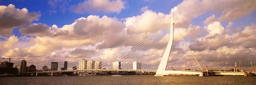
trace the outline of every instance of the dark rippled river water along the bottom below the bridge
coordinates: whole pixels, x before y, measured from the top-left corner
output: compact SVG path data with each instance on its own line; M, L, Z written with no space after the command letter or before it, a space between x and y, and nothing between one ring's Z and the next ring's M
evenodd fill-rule
M256 77L243 76L168 76L153 75L131 76L66 76L66 77L0 77L0 85L256 85Z

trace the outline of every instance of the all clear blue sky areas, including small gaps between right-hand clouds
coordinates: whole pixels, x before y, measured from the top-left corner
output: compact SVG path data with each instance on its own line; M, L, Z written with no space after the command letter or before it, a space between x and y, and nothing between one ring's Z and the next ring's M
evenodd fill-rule
M48 4L47 0L4 0L1 1L0 5L9 5L13 4L16 8L22 9L27 8L29 12L37 12L41 14L41 17L38 21L32 21L32 23L45 23L48 26L52 26L53 24L56 24L58 27L62 27L66 24L71 24L74 22L74 20L81 18L81 17L87 17L89 15L98 15L100 17L102 16L108 16L108 17L117 17L118 19L124 19L127 17L132 17L136 15L140 15L142 12L140 9L144 6L147 6L148 10L152 10L154 12L161 12L164 14L169 14L171 11L171 8L176 6L177 4L181 3L182 0L127 0L125 1L126 8L123 9L120 13L83 13L83 14L77 14L73 13L68 9L68 6L75 5L77 3L83 2L84 0L75 0L75 1L69 1L67 9L65 12L60 12L58 7L55 8L57 11L56 13L51 13L49 10L52 10L50 4ZM60 3L56 3L59 5ZM195 24L198 26L204 26L202 23L203 20L205 20L207 17L211 16L212 12L208 11L206 14L199 16L192 20L191 24ZM217 14L217 16L220 16L221 13ZM238 28L241 26L248 26L251 25L252 22L256 22L256 12L253 12L251 15L245 16L240 20L234 21L233 28ZM228 24L228 21L221 22L224 26ZM16 36L22 36L21 33L18 32L19 28L14 29L13 34ZM2 40L2 39L1 39Z

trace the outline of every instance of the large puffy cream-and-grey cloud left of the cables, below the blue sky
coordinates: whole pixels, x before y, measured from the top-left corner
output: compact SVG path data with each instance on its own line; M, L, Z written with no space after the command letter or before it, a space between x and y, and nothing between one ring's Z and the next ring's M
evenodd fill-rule
M62 48L94 45L102 41L107 43L100 44L100 47L109 48L127 39L122 36L112 37L118 34L122 35L123 29L125 29L125 25L116 18L106 16L99 18L99 16L92 15L87 18L79 18L74 23L65 25L62 28L58 28L56 25L51 28L46 24L34 23L20 29L19 32L25 35L35 35L36 38L30 41L35 45L23 49L11 49L4 53L3 56L11 54L13 54L12 56L18 56L22 54L29 57L39 57ZM75 54L76 51L79 51L79 49L71 52L69 57L82 56Z

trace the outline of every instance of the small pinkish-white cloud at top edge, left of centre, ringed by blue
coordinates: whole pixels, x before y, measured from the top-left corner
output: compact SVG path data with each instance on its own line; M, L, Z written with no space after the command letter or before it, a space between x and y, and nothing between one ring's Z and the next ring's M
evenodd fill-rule
M119 13L125 8L125 2L122 0L85 0L77 5L70 6L70 9L75 13Z

